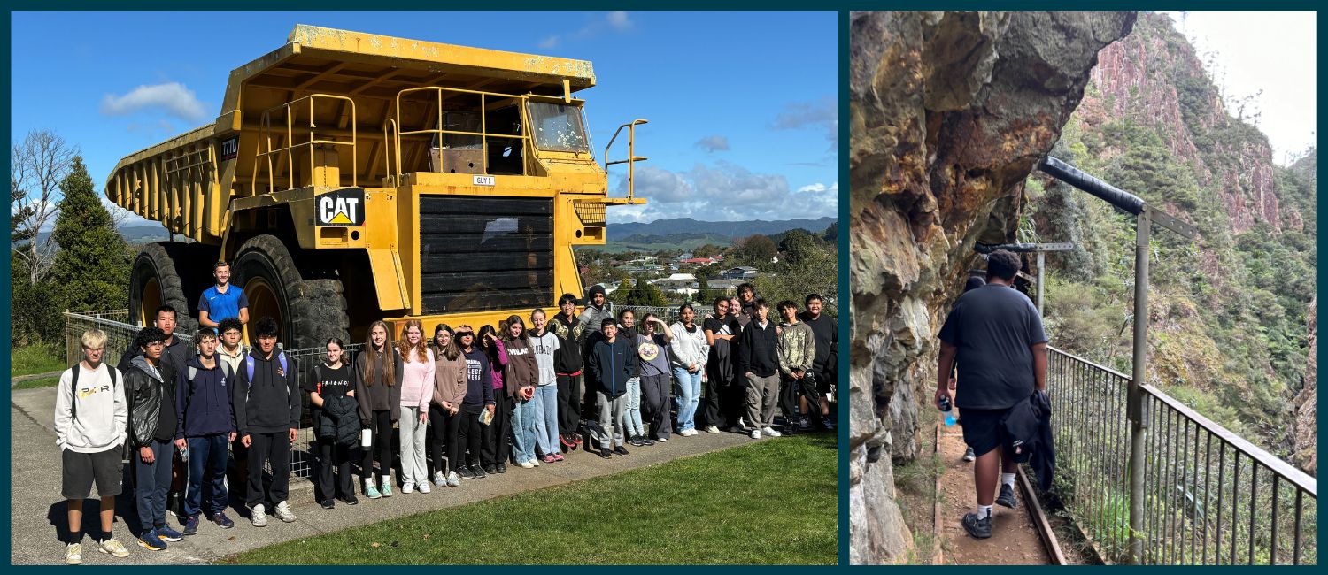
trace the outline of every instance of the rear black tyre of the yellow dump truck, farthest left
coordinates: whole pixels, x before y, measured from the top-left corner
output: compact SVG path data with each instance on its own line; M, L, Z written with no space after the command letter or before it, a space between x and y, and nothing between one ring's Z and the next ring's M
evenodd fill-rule
M183 262L183 244L154 242L143 246L129 272L129 323L150 325L159 305L175 308L175 331L193 335L198 320L190 315L189 299L177 263Z

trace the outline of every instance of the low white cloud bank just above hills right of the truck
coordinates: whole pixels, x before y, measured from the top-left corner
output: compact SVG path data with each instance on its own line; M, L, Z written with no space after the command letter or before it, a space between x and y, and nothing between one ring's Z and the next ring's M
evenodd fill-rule
M636 171L635 191L649 203L610 211L615 223L822 218L839 211L838 183L813 183L793 191L784 175L757 174L729 162L696 165L688 171L643 167ZM620 175L614 195L625 194L627 178Z

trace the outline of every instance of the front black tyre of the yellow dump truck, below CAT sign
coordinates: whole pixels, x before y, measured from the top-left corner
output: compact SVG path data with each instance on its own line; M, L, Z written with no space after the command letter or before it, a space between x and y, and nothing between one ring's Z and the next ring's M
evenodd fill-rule
M305 280L291 251L272 235L251 238L240 246L231 267L232 282L250 300L246 335L264 316L276 320L278 341L286 349L320 348L329 337L348 339L349 317L340 279Z

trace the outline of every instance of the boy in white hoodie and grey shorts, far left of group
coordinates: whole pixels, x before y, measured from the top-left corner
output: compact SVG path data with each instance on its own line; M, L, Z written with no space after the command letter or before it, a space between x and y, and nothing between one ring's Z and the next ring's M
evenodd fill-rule
M94 482L101 497L97 548L117 558L129 556L129 550L110 534L124 474L121 450L129 434L125 376L102 363L105 332L89 329L80 343L84 360L61 373L56 388L56 445L62 463L61 494L68 499L65 563L69 564L82 563L82 502L92 495Z

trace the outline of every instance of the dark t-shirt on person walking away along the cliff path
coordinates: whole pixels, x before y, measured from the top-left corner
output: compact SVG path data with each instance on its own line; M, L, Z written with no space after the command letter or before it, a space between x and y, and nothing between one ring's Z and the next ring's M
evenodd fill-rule
M1046 333L1019 291L989 284L965 292L939 337L959 348L957 408L1005 409L1033 394L1032 347L1046 343Z

